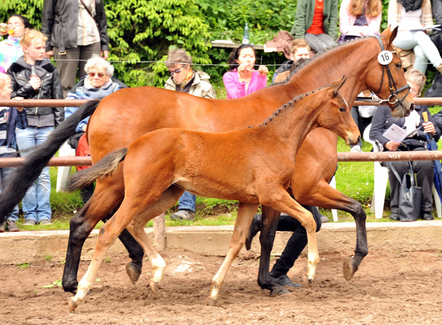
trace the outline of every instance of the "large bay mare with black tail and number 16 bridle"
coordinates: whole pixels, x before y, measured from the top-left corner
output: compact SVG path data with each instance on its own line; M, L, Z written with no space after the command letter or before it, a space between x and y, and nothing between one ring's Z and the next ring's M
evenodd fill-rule
M397 29L390 32L388 28L383 32L381 39L385 49L394 50L392 41L396 33ZM302 93L329 84L343 75L348 79L340 93L349 106L352 106L358 93L366 89L377 92L378 97L386 99L391 92L387 74L383 73L383 68L377 61L379 52L381 52L381 46L374 37L341 43L339 46L316 55L289 81L264 88L240 99L203 99L171 90L140 87L122 89L105 97L102 101L85 104L61 126L58 126L46 142L26 159L22 167L17 168L8 187L1 195L0 221L23 197L26 189L37 179L50 157L73 134L78 122L84 117L92 115L87 132L91 157L95 164L108 152L128 146L144 133L159 128L173 127L204 132L224 132L259 124L282 104ZM401 59L394 54L392 62L388 65L398 88L406 85L401 64ZM403 117L410 113L414 105L412 97L407 94L404 99L404 96L405 92L398 95L398 98L403 101L392 110L392 115ZM329 179L336 170L336 143L336 135L323 128L318 128L307 136L296 159L295 173L300 175L296 179L302 179L302 181L298 181L292 191L300 204L336 208L352 213L356 220L357 238L355 255L346 262L346 278L348 278L357 270L361 260L367 254L365 213L358 202L328 185ZM76 292L77 271L84 241L100 219L108 218L113 214L123 197L122 168L118 168L113 175L97 181L93 197L71 219L63 275L64 290ZM270 224L277 223L278 212L266 207L262 210L262 220L269 219ZM261 232L261 242L265 233L265 231ZM268 235L271 235L270 232ZM132 262L128 264L127 269L131 280L135 282L140 275L143 250L126 230L119 238L129 250ZM266 247L271 248L273 238L270 238L269 242ZM265 288L280 287L278 284L273 284L265 275L265 268L265 266L260 266L260 280L258 281L260 285Z

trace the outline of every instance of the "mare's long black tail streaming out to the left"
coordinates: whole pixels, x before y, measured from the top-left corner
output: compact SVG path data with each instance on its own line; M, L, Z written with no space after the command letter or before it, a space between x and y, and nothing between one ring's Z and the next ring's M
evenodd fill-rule
M64 141L73 135L79 122L92 115L98 104L99 101L88 101L81 105L73 115L70 115L55 128L43 144L37 146L32 154L26 157L23 165L17 167L15 172L10 175L8 185L0 195L0 223L6 219L14 206L26 194L26 190L39 177L49 159L55 155Z

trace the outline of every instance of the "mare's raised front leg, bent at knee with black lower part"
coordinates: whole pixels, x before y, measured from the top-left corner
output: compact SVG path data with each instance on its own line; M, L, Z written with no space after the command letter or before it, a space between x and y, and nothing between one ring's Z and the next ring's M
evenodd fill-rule
M322 180L316 184L318 189L314 193L296 193L296 197L302 204L320 206L321 208L338 209L350 213L356 221L356 248L353 257L347 257L344 261L343 272L346 280L352 279L358 270L363 258L368 254L367 230L365 220L367 215L358 201L340 193L327 181Z

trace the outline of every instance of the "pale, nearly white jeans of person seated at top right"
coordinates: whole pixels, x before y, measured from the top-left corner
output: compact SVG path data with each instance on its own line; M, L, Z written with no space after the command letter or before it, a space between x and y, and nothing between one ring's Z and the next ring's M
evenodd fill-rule
M413 68L422 73L425 73L427 70L428 60L430 60L434 68L439 67L442 63L439 50L425 32L398 32L398 36L394 39L393 45L402 50L413 50L414 56L416 57L416 59L414 59Z

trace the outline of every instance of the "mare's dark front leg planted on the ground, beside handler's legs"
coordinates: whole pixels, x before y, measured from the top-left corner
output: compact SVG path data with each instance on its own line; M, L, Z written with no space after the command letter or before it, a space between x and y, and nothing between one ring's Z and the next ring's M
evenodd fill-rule
M280 212L268 206L261 206L261 210L261 257L258 272L258 284L262 289L270 290L270 296L275 297L277 295L289 293L287 288L274 282L269 273L270 254L273 249L273 242L275 241Z

